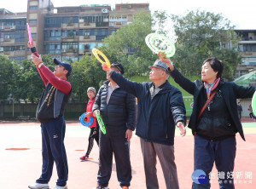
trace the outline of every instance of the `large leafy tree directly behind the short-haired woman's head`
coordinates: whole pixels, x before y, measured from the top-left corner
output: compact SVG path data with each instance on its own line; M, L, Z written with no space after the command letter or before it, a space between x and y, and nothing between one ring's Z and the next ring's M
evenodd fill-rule
M198 9L184 16L172 14L171 18L177 35L177 51L172 60L179 70L187 76L198 75L203 60L215 56L224 60L228 71L224 72L224 77L232 79L241 56L237 50L240 37L230 21L222 14ZM224 49L224 44L229 48Z

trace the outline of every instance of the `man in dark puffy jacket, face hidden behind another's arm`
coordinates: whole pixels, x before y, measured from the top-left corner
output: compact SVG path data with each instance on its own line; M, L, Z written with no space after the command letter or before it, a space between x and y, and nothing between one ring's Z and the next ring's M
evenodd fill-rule
M113 72L124 74L124 67L114 63ZM113 154L116 172L121 188L127 189L131 182L130 140L136 124L135 96L120 89L113 79L107 76L99 89L92 111L102 115L106 135L100 131L100 163L96 189L108 189L111 176Z

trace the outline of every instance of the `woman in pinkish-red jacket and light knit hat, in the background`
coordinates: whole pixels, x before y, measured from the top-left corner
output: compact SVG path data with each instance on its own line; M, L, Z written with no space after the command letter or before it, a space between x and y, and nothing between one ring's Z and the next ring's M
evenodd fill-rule
M86 112L88 114L86 114L85 117L87 117L89 119L90 117L93 117L91 110L92 110L93 103L96 100L96 89L93 88L93 87L88 88L87 89L87 95L88 95L90 100L88 101L88 104L87 104L87 107L86 107ZM99 146L99 127L98 127L97 122L96 122L96 117L93 117L93 119L94 119L93 123L89 127L90 128L90 135L89 135L89 139L88 139L89 144L88 144L87 152L85 153L85 155L83 157L80 158L82 161L88 160L89 155L90 155L90 151L93 147L94 140L96 140L96 143Z

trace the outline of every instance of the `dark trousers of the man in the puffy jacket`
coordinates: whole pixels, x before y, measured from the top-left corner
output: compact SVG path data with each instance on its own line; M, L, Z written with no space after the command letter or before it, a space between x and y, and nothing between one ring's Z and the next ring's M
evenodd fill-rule
M130 142L125 138L126 126L106 126L106 135L100 130L100 163L97 182L100 186L108 186L112 172L113 155L116 163L117 179L120 186L130 186L131 161Z

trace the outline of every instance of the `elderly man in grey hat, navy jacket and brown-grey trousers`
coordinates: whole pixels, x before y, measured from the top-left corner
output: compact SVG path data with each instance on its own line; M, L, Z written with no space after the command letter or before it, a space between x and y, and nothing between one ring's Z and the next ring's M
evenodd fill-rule
M136 135L141 138L146 186L159 188L156 175L156 155L160 160L167 189L177 189L177 169L174 162L175 125L181 135L186 135L186 110L181 92L168 81L169 69L166 63L156 60L149 66L152 83L131 82L117 72L102 65L103 70L117 83L120 89L134 94L138 101ZM143 187L143 186L142 186Z

